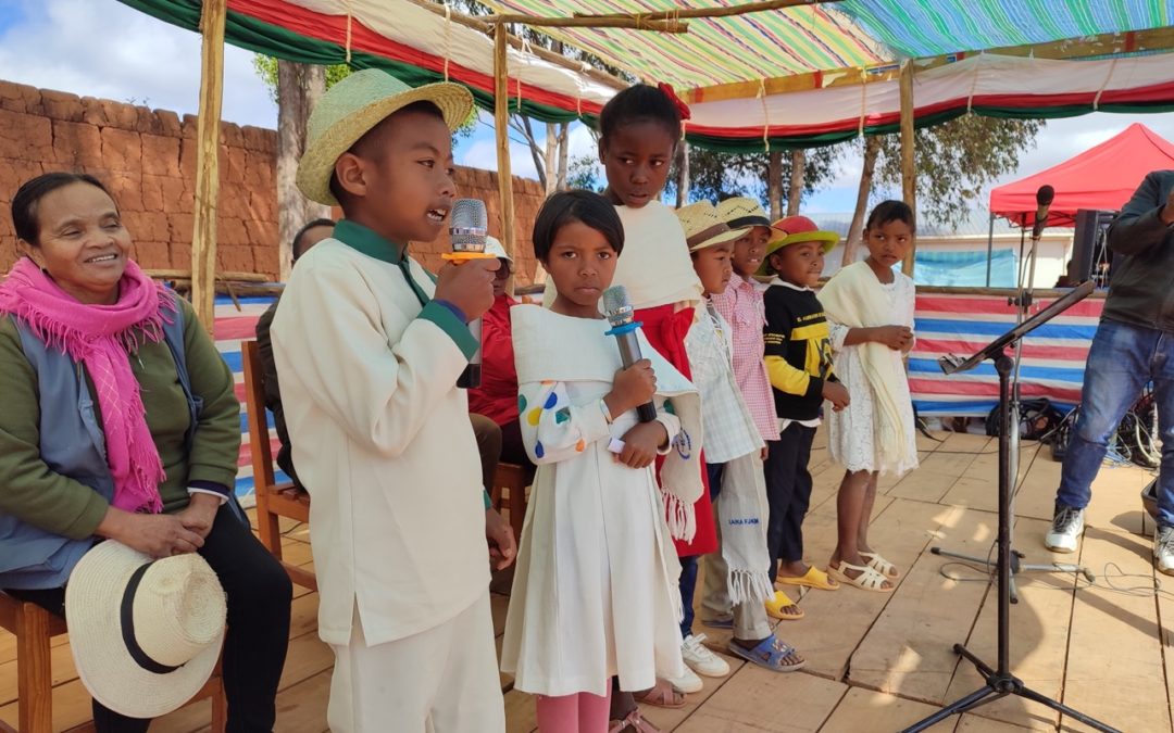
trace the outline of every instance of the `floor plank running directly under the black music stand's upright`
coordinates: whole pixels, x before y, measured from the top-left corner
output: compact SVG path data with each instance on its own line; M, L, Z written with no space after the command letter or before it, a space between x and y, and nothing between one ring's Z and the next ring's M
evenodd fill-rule
M1051 522L1019 520L1017 535L1041 537ZM1032 548L1039 547L1038 542ZM1051 552L1032 552L1031 561L1051 559ZM1075 581L1062 573L1024 573L1017 577L1019 603L1011 606L1011 671L1031 688L1052 699L1064 691L1064 667L1068 656L1068 631ZM996 646L998 605L994 589L987 597L966 647L987 664L998 661ZM950 685L946 701L956 700L983 684L973 665L963 661ZM1059 719L1047 707L1007 697L978 708L976 714L1034 729L1054 729Z

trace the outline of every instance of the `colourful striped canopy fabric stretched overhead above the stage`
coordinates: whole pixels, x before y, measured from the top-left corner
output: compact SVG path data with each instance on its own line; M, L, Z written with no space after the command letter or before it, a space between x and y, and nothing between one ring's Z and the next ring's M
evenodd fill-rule
M198 27L201 0L121 1L167 22ZM290 61L382 68L410 86L451 80L468 87L481 108L493 108L493 41L447 18L440 9L444 2L227 1L230 43ZM535 18L744 4L486 2L500 13ZM670 83L693 106L686 130L690 143L755 152L892 133L900 110L896 69L905 59L915 60L918 127L969 113L1043 118L1174 109L1174 56L1163 53L1174 50L1172 18L1174 0L841 0L687 19L683 34L598 27L540 30L599 56L628 79ZM1053 41L1060 43L1048 57L1021 49L1011 55L974 53ZM1073 47L1079 53L1070 59L1065 49ZM1139 55L1139 48L1156 55ZM1061 59L1052 57L1057 55ZM580 62L568 68L542 59L526 47L508 52L510 107L540 121L592 123L625 83L588 74Z

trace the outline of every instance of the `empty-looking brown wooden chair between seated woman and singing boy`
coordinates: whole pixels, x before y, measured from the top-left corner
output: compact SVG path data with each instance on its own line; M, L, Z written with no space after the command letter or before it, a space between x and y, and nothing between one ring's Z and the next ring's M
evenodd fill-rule
M310 590L318 590L318 581L312 570L282 559L279 520L288 517L296 522L309 522L310 495L296 489L290 482L276 483L274 452L269 444L269 421L265 416L265 371L257 342L242 341L241 357L244 361L244 405L249 414L249 446L252 449L252 484L261 543L282 563L290 581Z

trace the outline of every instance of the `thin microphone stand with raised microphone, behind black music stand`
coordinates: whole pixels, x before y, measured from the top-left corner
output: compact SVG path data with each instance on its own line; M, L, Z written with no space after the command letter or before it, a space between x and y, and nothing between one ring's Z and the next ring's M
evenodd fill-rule
M1026 220L1019 233L1019 267L1018 267L1018 287L1014 297L1007 298L1007 305L1016 306L1016 330L1021 328L1024 323L1031 313L1031 307L1034 304L1035 293L1035 251L1039 246L1039 239L1043 235L1040 230L1040 236L1032 232L1031 237L1031 250L1027 256L1024 257L1024 242L1026 239ZM1026 277L1026 279L1025 279ZM1089 291L1091 292L1091 291ZM1075 303L1075 301L1073 301ZM1041 321L1043 323L1043 321ZM1026 332L1024 332L1026 333ZM1000 422L999 426L999 447L1001 452L1003 439L1007 437L1008 450L1010 450L1010 476L1012 481L1011 489L1011 514L1014 514L1014 498L1019 493L1016 487L1019 486L1019 454L1020 454L1020 434L1019 434L1019 406L1020 406L1020 379L1019 371L1023 365L1023 339L1014 340L1014 349L1011 359L1011 375L1010 375L1010 394L1006 399L999 395L999 410L1000 410ZM943 367L944 368L944 367ZM998 365L996 365L996 371L998 371ZM950 372L947 372L949 374ZM1003 375L999 375L999 380L1003 380ZM1007 428L1007 415L1012 416L1010 420L1011 427ZM952 552L950 550L943 550L938 547L930 548L930 552L938 555L940 557L949 557L951 559L959 559L973 565L980 565L987 571L994 569L997 563L991 562L991 556L976 557L973 555L964 555L962 552ZM1074 563L1024 563L1021 562L1026 555L1019 550L1011 550L1011 579L1010 579L1010 598L1011 603L1019 603L1019 589L1016 586L1016 576L1020 572L1079 572L1089 582L1095 582L1095 576L1091 570L1084 565L1078 565Z

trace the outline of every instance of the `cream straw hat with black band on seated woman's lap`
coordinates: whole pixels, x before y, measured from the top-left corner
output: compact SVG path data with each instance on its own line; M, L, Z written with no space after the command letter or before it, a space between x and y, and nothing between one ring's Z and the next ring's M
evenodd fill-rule
M224 640L220 579L196 554L151 561L107 539L66 585L77 674L94 699L131 718L157 718L200 691Z

